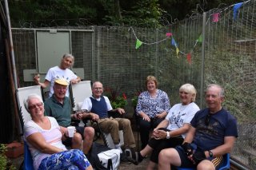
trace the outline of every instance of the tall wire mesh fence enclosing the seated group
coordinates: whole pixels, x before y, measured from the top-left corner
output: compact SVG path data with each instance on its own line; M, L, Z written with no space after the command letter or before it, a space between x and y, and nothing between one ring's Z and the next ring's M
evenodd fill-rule
M232 156L255 169L255 6L255 0L242 2L204 15L191 15L161 29L72 28L91 30L70 31L74 67L84 68L86 80L102 81L105 87L126 93L129 103L138 91L145 90L148 75L158 78L158 88L168 93L171 105L178 102L178 88L184 83L198 89L197 103L202 107L206 85L222 85L226 89L224 107L237 117L239 124ZM35 31L13 30L21 86L33 85L22 77L23 69L36 69ZM133 112L131 105L127 109Z

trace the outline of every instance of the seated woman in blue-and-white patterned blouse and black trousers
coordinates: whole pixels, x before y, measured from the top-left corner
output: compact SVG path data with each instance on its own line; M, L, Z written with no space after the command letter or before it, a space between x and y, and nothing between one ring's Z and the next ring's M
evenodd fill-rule
M136 113L139 117L142 148L149 140L150 128L156 128L170 110L167 93L158 89L158 81L154 76L146 77L146 89L138 97Z

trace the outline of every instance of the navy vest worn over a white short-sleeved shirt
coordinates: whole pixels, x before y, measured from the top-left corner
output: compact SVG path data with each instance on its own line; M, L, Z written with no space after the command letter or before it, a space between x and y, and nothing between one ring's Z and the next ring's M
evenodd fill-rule
M106 101L105 101L104 97L101 97L100 101L97 101L93 97L90 97L90 101L91 101L91 105L92 105L92 107L90 109L91 113L98 114L98 117L100 119L104 119L104 118L108 117Z

